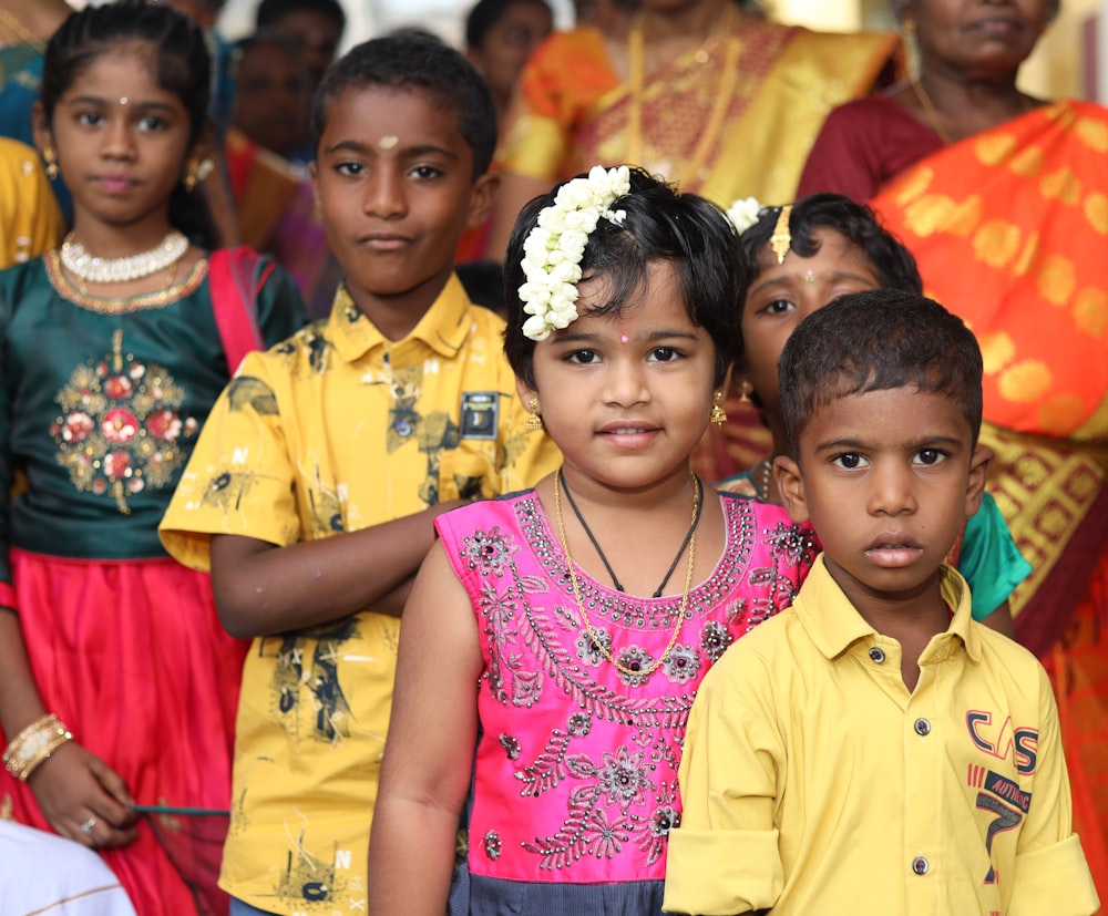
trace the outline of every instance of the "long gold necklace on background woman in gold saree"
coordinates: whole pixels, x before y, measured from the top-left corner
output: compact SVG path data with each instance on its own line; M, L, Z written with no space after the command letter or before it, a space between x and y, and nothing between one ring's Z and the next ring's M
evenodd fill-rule
M712 34L700 45L700 52L705 54L706 61L710 60L705 45L718 43L724 37L727 51L724 59L724 66L720 71L722 82L716 93L711 114L705 130L700 132L700 141L696 145L693 156L687 161L685 167L678 168L677 164L670 165L670 173L665 177L677 184L686 181L695 181L700 169L704 167L708 154L719 140L720 131L724 127L724 119L731 104L731 96L735 94L735 86L739 76L739 52L741 50L739 40L735 32L735 4L731 0L726 0L727 6L719 18ZM668 64L667 64L668 65ZM627 38L627 69L630 82L630 109L628 111L627 123L627 162L633 165L644 165L643 159L643 95L646 86L646 34L643 24L643 14L635 17L630 33Z

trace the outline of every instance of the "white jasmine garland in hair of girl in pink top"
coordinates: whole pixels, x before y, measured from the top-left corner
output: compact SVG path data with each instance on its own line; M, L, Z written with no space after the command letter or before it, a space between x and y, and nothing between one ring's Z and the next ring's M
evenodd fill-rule
M608 169L596 165L587 177L562 185L554 203L540 212L523 243L523 274L527 279L520 287L520 301L531 316L523 322L525 337L545 340L551 331L567 328L576 319L576 284L588 236L602 217L623 225L626 210L611 207L629 191L630 171L626 165Z

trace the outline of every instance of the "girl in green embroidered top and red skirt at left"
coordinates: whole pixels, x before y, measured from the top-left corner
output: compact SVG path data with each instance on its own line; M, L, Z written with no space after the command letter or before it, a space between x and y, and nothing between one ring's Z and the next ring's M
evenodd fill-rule
M29 486L0 504L0 809L101 850L144 916L179 916L193 895L130 806L226 810L246 645L157 523L242 350L302 305L271 263L258 290L232 267L250 257L202 247L211 66L189 20L89 8L45 60L37 140L74 223L0 274L0 493Z

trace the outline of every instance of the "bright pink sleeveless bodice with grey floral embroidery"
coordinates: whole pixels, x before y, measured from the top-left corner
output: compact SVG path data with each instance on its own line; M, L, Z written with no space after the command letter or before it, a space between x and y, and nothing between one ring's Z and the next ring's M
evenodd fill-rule
M476 791L510 778L529 803L517 812L525 835L503 821L502 807L475 809L485 861L500 869L530 857L566 881L578 863L629 856L653 866L680 823L676 773L696 688L736 638L792 600L798 574L788 566L810 559L810 538L786 524L760 531L758 512L732 505L725 553L689 593L684 628L652 669L680 598L635 598L578 574L589 632L537 497L500 504L510 506L510 522L486 510L488 524L459 531L453 547L481 630L486 727L502 762L479 774ZM611 665L602 645L630 673Z

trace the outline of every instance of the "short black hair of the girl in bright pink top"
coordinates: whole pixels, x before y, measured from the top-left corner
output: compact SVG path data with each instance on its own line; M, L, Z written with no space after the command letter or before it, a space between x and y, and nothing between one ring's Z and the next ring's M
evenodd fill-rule
M520 213L504 261L507 329L504 352L519 375L534 388L535 341L523 333L519 289L523 274L523 246L543 207L554 203L555 187L536 197ZM615 200L624 210L620 224L602 218L588 236L581 269L586 277L604 277L609 298L591 313L618 316L633 308L646 280L647 268L659 261L673 266L678 288L693 323L702 327L716 344L715 384L720 384L735 358L739 339L739 292L746 287L747 260L738 234L724 212L696 194L681 194L673 185L630 169L630 191Z

